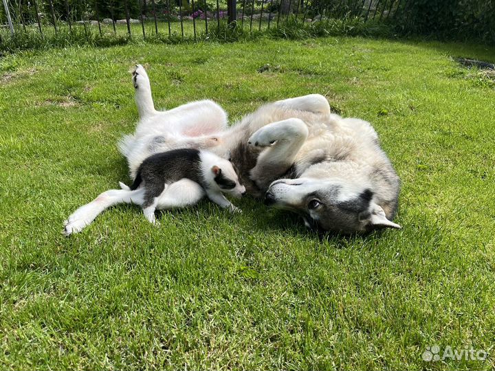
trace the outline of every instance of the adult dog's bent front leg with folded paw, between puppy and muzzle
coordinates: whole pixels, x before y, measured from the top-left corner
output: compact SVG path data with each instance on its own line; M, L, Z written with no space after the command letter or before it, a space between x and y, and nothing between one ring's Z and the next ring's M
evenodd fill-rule
M251 146L265 148L251 170L251 179L261 190L292 166L308 133L303 120L290 118L267 124L248 139Z

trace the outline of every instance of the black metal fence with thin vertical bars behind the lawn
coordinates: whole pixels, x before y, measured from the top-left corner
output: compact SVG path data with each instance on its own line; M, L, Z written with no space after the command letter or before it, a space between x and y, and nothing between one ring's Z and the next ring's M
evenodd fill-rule
M393 19L408 0L3 0L0 25L42 36L84 30L130 36L208 36L212 27L236 23L250 32L287 21L314 23L358 17ZM12 27L10 27L12 25Z

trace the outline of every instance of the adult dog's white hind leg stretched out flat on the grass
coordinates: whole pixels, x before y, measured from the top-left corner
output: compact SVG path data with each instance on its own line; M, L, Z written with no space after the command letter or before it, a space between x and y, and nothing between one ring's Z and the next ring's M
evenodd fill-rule
M117 205L118 203L135 203L142 205L144 191L138 190L107 190L100 194L94 201L87 203L78 208L72 213L67 221L65 221L65 228L63 234L70 236L73 233L82 231L87 225L102 213L108 207Z

